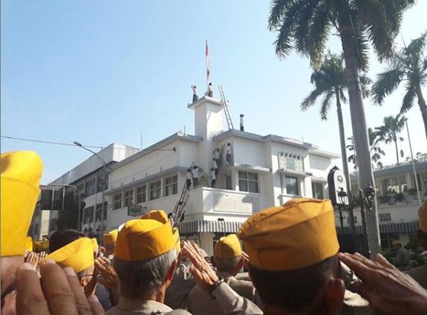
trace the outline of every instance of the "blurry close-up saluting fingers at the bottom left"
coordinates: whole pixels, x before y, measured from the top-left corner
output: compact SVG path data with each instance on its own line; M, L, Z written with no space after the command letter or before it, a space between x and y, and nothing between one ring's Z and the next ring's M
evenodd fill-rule
M64 270L53 260L40 265L41 279L24 263L16 277L16 311L26 315L101 315L97 297L86 298L72 268Z

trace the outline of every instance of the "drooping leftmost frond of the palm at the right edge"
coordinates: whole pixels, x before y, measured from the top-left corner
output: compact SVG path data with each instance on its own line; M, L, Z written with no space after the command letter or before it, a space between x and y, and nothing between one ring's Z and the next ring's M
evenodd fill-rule
M382 105L385 97L399 86L403 76L403 71L394 68L377 74L377 81L371 89L372 101L375 104Z

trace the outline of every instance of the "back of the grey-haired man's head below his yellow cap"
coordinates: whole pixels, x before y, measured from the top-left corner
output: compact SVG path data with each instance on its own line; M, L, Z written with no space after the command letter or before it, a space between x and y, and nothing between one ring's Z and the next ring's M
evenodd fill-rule
M121 297L156 294L165 283L168 270L176 258L175 249L141 261L126 261L114 257L113 267L119 276Z

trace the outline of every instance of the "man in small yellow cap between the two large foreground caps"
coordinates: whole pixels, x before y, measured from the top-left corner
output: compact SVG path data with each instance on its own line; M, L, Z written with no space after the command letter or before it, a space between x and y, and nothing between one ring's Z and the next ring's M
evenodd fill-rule
M214 247L214 265L217 275L222 278L237 294L249 300L254 299L252 282L237 280L234 276L244 265L242 247L236 234L220 238ZM193 314L221 314L220 307L215 299L203 291L199 286L194 287L188 297L188 311Z

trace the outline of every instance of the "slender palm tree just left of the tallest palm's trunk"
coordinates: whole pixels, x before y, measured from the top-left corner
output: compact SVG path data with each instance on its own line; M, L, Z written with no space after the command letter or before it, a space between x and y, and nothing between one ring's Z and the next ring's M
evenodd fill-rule
M347 192L349 192L349 199L351 199L351 184L350 176L347 165L347 151L345 150L345 132L344 122L342 121L341 102L347 103L344 91L347 89L347 77L345 76L342 55L335 55L328 52L322 64L315 70L310 77L310 82L315 84L315 89L308 94L306 99L301 103L301 109L306 111L309 107L315 104L315 101L323 96L323 101L320 106L320 117L323 120L328 119L328 112L330 110L331 99L335 97L335 104L337 106L338 127L340 130L340 144L341 144L341 157L342 167L347 181ZM367 84L371 80L366 77L360 77L362 83L362 92L367 96Z

